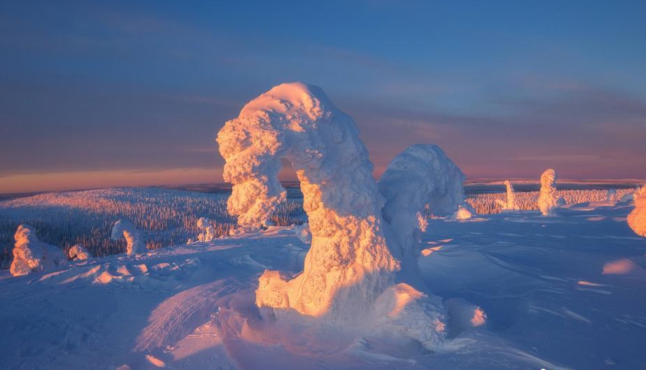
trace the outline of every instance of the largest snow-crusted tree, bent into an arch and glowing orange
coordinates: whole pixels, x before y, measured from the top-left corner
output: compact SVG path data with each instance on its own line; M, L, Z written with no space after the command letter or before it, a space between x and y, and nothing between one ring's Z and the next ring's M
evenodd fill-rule
M370 310L393 282L399 262L384 237L383 198L368 150L352 118L321 88L283 83L252 100L217 135L233 184L227 208L238 224L259 228L285 199L281 158L300 180L311 248L304 270L291 280L265 271L259 307L350 321Z

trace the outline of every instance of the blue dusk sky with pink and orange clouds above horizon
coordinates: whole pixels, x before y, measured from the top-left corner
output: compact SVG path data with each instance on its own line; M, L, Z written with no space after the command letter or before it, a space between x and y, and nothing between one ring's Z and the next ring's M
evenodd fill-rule
M646 1L0 1L0 193L222 182L214 139L283 82L375 177L646 178ZM285 171L285 179L293 173Z

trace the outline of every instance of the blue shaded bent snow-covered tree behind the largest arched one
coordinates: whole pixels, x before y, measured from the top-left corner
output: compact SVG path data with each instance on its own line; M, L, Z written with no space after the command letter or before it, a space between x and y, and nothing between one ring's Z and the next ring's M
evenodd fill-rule
M396 235L403 274L419 269L419 235L426 228L419 218L426 205L433 214L450 216L464 202L464 174L437 145L417 144L393 158L379 179L386 198L382 210Z

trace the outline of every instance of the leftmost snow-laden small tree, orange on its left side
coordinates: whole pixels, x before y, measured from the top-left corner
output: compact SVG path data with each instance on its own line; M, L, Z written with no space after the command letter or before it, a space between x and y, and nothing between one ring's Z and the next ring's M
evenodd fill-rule
M65 263L67 259L60 248L41 242L32 226L22 224L13 235L13 261L9 272L13 276L46 271Z

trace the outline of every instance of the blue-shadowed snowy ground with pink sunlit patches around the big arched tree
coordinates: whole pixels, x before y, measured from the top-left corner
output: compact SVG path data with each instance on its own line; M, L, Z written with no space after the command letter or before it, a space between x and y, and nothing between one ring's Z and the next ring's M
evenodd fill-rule
M631 206L556 217L429 219L419 258L451 318L436 352L386 334L277 327L253 304L265 269L297 273L291 228L71 262L0 279L7 369L641 369L646 238ZM478 307L474 311L470 308ZM309 320L304 317L303 320ZM477 327L466 324L478 323ZM484 322L484 324L482 324Z

